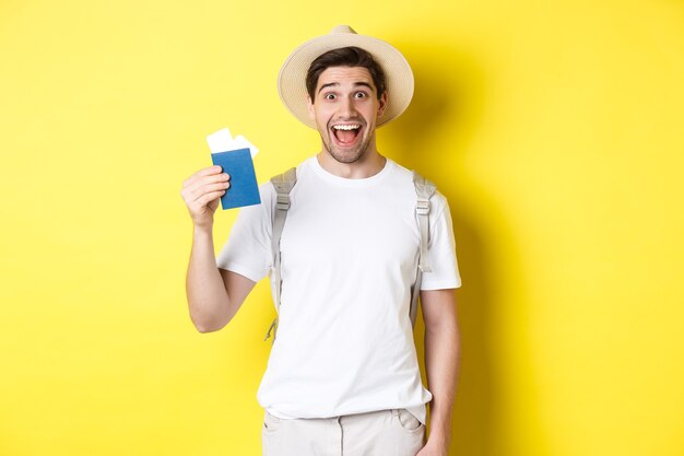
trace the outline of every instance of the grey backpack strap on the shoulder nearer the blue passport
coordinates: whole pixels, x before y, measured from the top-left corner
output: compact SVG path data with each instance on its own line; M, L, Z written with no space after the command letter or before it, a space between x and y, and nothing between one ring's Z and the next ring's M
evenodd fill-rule
M297 183L297 169L290 168L283 174L273 176L271 178L273 187L275 187L276 199L275 210L273 211L273 230L271 233L271 252L273 253L273 304L275 305L275 312L280 312L280 293L282 288L281 280L281 258L280 258L280 238L283 234L283 227L285 226L285 219L287 218L287 210L290 209L290 192ZM273 330L273 340L275 340L275 331L278 330L278 316L269 327L266 334L267 340L271 337L271 330Z

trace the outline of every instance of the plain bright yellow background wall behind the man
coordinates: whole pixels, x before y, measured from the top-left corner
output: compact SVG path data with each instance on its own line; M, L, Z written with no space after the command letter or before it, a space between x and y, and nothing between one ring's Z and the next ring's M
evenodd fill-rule
M260 454L269 291L194 330L180 185L224 126L260 182L318 150L275 77L340 23L413 65L379 149L451 204L451 453L682 455L675 0L3 0L0 455Z

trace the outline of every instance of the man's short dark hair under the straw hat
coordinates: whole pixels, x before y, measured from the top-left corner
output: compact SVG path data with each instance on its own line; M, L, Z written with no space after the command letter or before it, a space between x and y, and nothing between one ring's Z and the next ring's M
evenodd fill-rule
M363 67L368 70L373 83L378 92L378 100L385 93L385 71L382 67L375 61L373 56L355 46L341 47L332 49L326 54L321 54L311 62L309 70L306 72L306 91L311 97L311 103L316 97L316 85L320 73L330 67Z

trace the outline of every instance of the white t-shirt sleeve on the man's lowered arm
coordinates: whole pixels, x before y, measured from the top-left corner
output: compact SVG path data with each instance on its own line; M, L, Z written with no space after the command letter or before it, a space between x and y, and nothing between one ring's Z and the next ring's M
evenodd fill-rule
M432 201L431 201L432 202ZM427 257L432 272L423 273L421 290L443 290L461 287L456 259L456 241L449 203L441 194L434 196L434 217L429 217L429 244Z

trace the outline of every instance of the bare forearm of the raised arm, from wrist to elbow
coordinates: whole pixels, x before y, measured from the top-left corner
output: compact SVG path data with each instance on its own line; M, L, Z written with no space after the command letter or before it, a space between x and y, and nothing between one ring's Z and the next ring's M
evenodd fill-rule
M216 267L211 226L193 229L186 293L190 318L200 332L221 329L235 314Z

